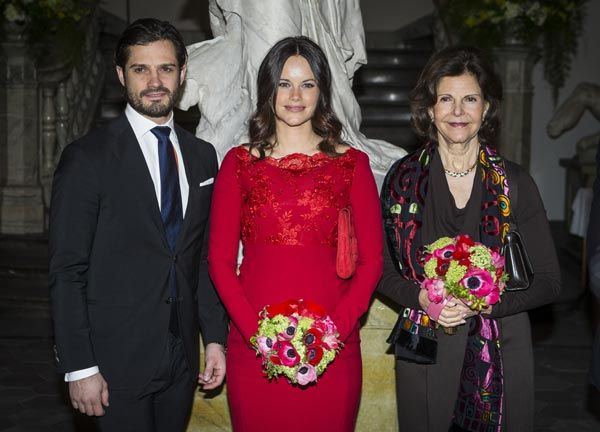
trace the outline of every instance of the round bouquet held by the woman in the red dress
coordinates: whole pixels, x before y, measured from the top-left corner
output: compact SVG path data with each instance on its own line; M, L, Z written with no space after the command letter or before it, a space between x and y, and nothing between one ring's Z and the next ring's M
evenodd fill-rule
M343 344L335 324L318 304L289 300L267 305L250 342L267 378L285 376L301 386L317 381Z

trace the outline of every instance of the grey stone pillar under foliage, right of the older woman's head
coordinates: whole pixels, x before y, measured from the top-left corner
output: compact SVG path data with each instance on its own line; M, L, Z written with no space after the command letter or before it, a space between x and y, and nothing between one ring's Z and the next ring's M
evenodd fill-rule
M527 171L531 160L531 75L537 53L531 46L511 41L494 49L497 71L502 78L502 130L498 148L500 154L517 162Z

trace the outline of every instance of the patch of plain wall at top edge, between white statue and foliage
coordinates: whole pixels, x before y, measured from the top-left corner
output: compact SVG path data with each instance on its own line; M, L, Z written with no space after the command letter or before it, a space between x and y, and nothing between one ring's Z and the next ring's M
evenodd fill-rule
M365 31L392 31L433 12L431 0L360 0Z

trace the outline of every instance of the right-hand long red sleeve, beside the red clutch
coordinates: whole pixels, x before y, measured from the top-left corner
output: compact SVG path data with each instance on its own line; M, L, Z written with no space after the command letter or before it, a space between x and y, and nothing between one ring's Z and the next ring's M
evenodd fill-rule
M358 262L348 290L332 314L342 340L348 337L367 311L383 270L383 228L377 186L368 156L357 152L356 157L350 204L358 241Z

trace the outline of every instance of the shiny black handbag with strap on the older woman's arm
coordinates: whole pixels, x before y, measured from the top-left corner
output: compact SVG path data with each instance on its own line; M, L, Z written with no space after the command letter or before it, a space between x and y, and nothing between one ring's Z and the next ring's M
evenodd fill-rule
M508 174L507 164L507 174ZM513 171L513 170L511 170ZM512 203L512 208L517 207L517 181L516 173L513 171L511 176L513 179L510 184L509 194ZM504 237L504 245L502 246L502 255L504 256L504 270L508 274L508 282L506 283L506 291L521 291L529 288L533 283L533 266L529 260L525 243L513 218L513 213L510 214L510 228Z

